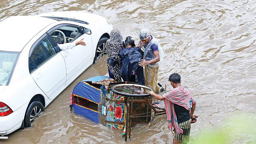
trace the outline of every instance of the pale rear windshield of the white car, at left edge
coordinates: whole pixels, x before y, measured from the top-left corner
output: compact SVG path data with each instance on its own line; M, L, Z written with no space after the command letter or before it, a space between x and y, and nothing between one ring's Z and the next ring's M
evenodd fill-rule
M19 52L0 51L0 86L9 84Z

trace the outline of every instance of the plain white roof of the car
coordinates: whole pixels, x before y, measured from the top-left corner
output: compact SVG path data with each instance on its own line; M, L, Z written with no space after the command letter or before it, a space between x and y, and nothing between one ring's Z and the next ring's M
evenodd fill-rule
M0 50L21 52L46 26L57 22L39 16L11 16L0 22Z

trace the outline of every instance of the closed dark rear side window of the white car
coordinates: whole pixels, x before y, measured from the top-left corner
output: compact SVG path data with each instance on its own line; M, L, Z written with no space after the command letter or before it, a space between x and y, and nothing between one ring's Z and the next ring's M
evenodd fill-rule
M55 54L52 44L48 38L45 38L34 48L29 57L29 71L32 72Z

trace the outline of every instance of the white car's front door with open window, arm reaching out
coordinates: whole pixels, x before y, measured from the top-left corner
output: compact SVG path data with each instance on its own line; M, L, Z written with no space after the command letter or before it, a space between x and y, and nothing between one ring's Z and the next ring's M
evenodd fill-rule
M67 39L70 39L70 32L66 32L68 28L73 29L76 28L71 32L71 34L75 34L76 37L70 42L77 42L84 38L84 42L86 42L86 46L78 45L68 50L62 50L60 53L64 56L66 62L66 85L70 84L76 77L79 76L86 68L88 68L93 60L93 46L92 46L92 39L89 34L82 34L83 28L82 26L74 25L74 24L60 24L54 28L54 30L49 31L49 34L52 34L55 30L62 30ZM77 33L76 33L77 31Z

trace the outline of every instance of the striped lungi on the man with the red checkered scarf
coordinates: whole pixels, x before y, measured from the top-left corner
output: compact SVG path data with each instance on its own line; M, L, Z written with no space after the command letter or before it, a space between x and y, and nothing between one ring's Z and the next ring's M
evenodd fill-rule
M191 119L186 122L180 122L178 125L183 130L183 134L177 134L174 129L174 140L180 141L182 144L186 144L189 141Z

